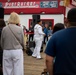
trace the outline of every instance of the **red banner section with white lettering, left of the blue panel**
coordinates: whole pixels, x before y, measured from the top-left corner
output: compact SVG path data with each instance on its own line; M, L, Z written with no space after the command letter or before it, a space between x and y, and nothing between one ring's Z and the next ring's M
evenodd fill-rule
M40 8L40 2L5 2L4 8Z

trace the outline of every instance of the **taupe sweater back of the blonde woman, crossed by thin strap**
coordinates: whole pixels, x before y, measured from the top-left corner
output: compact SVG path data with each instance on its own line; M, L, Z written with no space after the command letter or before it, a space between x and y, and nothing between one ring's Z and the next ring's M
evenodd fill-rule
M16 35L16 37L18 39L22 39L22 37L23 37L23 35L22 35L22 33L23 33L22 28L19 27L19 26L14 25L14 24L9 24L9 26L10 26L11 30L14 31L13 33ZM3 39L5 39L5 41L2 43L3 49L7 49L7 50L8 49L22 49L23 41L19 40L20 43L22 44L22 46L18 44L18 41L15 38L15 36L12 34L9 26L4 27L4 29L3 29L3 32L5 32L3 34Z

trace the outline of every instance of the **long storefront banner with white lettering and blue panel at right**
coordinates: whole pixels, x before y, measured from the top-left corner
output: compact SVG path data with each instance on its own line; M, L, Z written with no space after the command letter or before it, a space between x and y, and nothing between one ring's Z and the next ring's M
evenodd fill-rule
M2 3L5 9L11 8L58 8L58 1L35 1L35 2L5 2Z

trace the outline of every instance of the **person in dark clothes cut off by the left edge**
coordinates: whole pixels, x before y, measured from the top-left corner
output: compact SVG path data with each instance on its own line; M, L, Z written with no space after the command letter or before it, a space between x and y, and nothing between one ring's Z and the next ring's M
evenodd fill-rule
M2 72L3 49L1 48L1 32L2 32L3 27L5 26L6 26L5 21L1 19L0 20L0 75L3 75L3 72Z

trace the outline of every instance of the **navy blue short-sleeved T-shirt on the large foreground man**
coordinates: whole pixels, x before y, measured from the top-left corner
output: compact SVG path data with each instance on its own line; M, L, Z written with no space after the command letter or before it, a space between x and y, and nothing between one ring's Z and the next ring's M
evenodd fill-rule
M76 75L76 28L67 28L54 33L45 53L56 57L55 75Z

